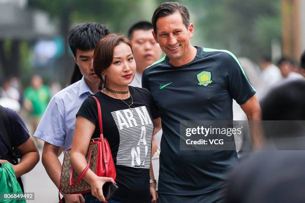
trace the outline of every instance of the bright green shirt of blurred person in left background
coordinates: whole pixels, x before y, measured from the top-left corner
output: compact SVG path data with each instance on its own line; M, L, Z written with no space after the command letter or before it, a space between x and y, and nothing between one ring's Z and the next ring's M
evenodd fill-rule
M24 98L32 103L32 115L41 116L50 101L50 90L47 86L39 89L29 87L25 90Z

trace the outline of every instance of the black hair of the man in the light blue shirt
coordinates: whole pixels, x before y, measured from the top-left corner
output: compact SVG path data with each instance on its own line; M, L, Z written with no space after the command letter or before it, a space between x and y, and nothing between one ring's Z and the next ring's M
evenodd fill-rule
M69 46L74 56L76 49L88 51L94 49L96 43L109 34L105 25L98 22L85 22L73 27L68 36Z

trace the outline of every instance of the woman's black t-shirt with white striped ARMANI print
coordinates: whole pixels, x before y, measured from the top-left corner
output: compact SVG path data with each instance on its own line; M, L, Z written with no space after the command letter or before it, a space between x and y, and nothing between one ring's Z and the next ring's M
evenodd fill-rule
M119 186L113 200L124 203L149 203L150 164L152 149L152 119L159 117L152 104L148 90L129 86L132 98L114 99L98 92L95 94L101 104L103 132L108 140L116 167ZM97 103L87 98L77 115L95 124L92 138L100 137Z

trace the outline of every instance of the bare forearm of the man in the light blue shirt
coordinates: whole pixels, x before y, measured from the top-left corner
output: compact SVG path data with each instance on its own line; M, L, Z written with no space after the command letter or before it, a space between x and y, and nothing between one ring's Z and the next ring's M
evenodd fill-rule
M45 152L42 154L42 164L53 181L55 186L59 189L60 185L60 174L61 174L61 163L57 157L56 153Z

